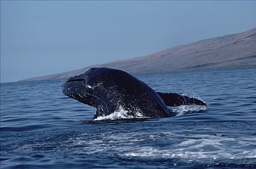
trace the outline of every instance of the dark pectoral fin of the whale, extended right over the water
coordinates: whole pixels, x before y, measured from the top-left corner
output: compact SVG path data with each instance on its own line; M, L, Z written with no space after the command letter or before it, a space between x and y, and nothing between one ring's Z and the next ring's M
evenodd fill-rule
M181 96L177 93L161 93L157 92L159 96L163 99L163 102L166 106L181 106L181 105L189 105L189 104L197 104L197 105L204 105L207 104L204 101L199 99L194 99L188 96Z

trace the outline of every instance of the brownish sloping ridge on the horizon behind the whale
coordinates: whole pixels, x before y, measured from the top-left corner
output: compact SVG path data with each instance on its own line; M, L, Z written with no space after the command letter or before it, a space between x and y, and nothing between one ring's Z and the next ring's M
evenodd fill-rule
M172 47L147 56L92 65L79 70L21 81L67 79L84 73L91 67L115 68L131 74L256 68L256 28L238 34Z

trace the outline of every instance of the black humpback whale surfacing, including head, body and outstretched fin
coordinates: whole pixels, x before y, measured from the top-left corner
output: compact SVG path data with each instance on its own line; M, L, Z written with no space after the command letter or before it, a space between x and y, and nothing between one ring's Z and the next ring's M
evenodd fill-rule
M131 74L110 68L91 68L62 84L64 95L96 108L94 119L119 110L146 118L175 116L167 106L207 105L177 93L154 91Z

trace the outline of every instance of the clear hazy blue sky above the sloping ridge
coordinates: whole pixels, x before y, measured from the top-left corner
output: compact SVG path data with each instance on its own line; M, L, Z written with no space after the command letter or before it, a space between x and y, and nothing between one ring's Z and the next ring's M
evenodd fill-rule
M256 1L0 1L0 82L256 27Z

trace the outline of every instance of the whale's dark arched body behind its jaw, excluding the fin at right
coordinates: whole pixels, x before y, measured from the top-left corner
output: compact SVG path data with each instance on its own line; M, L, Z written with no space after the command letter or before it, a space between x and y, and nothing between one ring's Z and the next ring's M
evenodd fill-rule
M89 86L89 87L88 87ZM88 73L87 87L97 97L94 118L124 110L128 115L170 116L160 96L147 84L122 70L98 68Z

